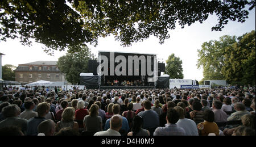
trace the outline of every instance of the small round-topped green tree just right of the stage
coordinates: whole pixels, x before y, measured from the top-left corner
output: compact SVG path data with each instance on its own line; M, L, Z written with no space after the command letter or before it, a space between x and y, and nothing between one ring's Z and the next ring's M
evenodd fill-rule
M172 53L168 60L166 60L166 72L165 74L170 75L170 78L183 79L183 68L182 61L179 57L175 57L174 53Z

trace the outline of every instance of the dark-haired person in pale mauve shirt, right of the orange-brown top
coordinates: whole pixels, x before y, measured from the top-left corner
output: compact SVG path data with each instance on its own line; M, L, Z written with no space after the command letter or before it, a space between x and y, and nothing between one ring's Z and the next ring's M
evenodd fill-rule
M212 108L214 113L214 122L225 122L229 117L226 112L221 110L222 103L220 100L213 100Z

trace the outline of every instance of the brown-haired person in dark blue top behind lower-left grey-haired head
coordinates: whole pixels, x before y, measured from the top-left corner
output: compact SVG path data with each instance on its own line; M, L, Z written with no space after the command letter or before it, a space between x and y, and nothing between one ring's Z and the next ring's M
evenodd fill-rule
M36 107L36 111L38 112L38 116L32 117L27 122L27 135L29 136L36 136L38 135L38 125L46 120L46 114L50 110L49 103L43 102L38 104Z

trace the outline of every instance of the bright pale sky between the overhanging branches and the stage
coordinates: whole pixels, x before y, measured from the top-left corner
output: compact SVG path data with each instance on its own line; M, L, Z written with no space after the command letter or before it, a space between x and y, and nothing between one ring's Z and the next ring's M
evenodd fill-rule
M131 47L122 47L119 41L115 41L114 36L100 37L98 45L93 47L88 45L93 54L98 51L118 51L118 52L137 52L156 54L158 61L166 62L168 56L172 53L182 60L184 79L203 79L203 69L197 69L197 50L201 45L210 40L219 40L224 35L241 36L244 33L255 30L255 8L249 11L249 18L245 23L230 22L225 25L222 31L211 31L211 28L217 24L217 17L210 15L202 24L199 22L185 26L181 29L178 24L175 30L170 30L170 38L159 44L159 39L150 36L142 42L133 43ZM2 56L2 65L11 64L18 66L35 61L57 61L59 57L64 56L67 51L55 51L54 56L50 56L42 49L43 45L34 43L27 47L19 43L19 40L0 41L0 52Z

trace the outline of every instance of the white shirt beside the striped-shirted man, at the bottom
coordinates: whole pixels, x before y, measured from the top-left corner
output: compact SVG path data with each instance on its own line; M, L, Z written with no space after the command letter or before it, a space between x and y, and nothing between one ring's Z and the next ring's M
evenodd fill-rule
M187 136L198 136L198 130L195 121L191 119L179 119L176 123L177 127L183 128Z

